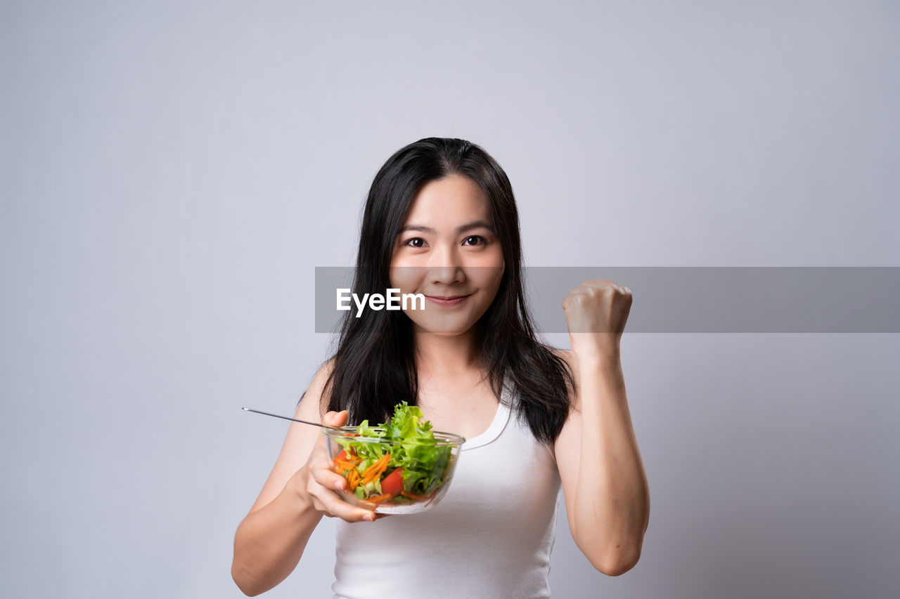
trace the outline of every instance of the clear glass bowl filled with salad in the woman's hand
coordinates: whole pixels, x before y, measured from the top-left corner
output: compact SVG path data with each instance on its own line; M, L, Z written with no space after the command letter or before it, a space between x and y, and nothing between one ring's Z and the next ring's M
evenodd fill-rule
M338 491L349 504L376 514L419 514L437 505L450 487L465 439L434 431L435 439L391 440L362 437L356 427L344 433L325 429L331 468L347 478ZM372 427L374 434L384 429Z

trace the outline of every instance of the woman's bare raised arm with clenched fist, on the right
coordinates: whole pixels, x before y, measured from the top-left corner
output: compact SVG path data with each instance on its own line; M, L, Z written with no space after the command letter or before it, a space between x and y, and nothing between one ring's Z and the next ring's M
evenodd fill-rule
M574 409L554 446L572 537L594 568L635 567L650 521L650 492L619 357L631 291L586 281L563 300L572 340Z

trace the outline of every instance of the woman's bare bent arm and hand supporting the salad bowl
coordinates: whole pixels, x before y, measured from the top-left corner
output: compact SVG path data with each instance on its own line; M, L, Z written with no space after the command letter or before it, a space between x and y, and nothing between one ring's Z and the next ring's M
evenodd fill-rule
M295 417L340 426L347 412L322 416L322 389L331 368L313 378ZM349 505L331 489L346 485L329 469L325 437L315 426L292 423L275 467L234 537L231 577L245 595L259 595L286 578L306 548L322 515L347 522L374 520L374 512Z

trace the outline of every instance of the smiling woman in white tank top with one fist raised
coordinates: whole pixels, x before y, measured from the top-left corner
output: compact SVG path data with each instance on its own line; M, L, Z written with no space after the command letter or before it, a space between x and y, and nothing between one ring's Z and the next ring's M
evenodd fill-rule
M384 422L405 399L467 439L454 482L422 514L349 505L319 430L293 424L235 535L240 589L287 577L327 515L339 518L335 597L546 597L561 486L590 563L610 576L634 567L650 500L619 362L630 291L583 282L563 299L572 351L538 342L509 179L462 139L421 139L383 165L356 267L359 297L394 288L427 306L348 312L296 416Z

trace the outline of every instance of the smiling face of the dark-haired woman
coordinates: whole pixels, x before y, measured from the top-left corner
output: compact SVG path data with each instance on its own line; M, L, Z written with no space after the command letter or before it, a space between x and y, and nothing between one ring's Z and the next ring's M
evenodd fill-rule
M487 196L472 179L451 174L413 199L394 241L391 287L426 296L424 310L403 310L416 332L460 335L491 307L503 267Z

